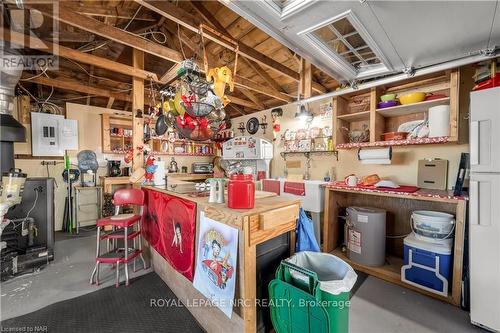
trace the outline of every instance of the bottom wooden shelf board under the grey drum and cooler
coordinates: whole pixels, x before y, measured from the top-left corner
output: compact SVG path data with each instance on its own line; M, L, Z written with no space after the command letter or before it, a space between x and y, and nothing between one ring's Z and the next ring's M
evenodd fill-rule
M344 260L345 262L347 262L349 265L351 265L352 268L354 268L357 271L378 277L382 280L400 285L408 289L415 290L421 294L438 298L444 302L453 303L451 296L444 297L438 294L428 292L424 289L420 289L411 284L405 283L404 281L401 281L401 267L403 266L403 259L401 258L395 256L387 256L385 265L372 267L372 266L365 266L362 264L358 264L350 260L349 258L347 258L346 254L340 250L340 248L336 248L331 253L339 257L340 259Z

